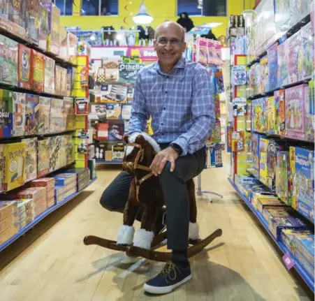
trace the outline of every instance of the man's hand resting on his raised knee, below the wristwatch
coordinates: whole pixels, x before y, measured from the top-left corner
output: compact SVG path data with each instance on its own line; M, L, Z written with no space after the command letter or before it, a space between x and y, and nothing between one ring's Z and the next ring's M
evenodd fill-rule
M161 152L158 152L150 166L153 174L155 176L161 175L161 172L168 161L170 162L170 171L173 172L175 170L175 160L178 156L178 153L173 147L167 147Z

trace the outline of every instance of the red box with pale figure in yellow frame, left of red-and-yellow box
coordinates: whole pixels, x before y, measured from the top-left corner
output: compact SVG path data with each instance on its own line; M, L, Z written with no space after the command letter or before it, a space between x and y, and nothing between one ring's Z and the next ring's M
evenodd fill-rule
M31 49L19 44L18 77L19 87L31 89Z

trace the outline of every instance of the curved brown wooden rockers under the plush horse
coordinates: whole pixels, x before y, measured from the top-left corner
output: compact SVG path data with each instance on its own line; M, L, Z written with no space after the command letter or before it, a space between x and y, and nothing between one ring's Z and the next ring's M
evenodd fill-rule
M191 247L188 248L188 257L195 256L198 254L201 250L205 249L210 242L215 240L217 237L220 237L222 235L222 230L217 229L214 231L214 233L210 234L209 236L205 237L203 240L189 240L189 244L191 244ZM152 240L151 249L143 249L135 246L126 246L122 244L117 244L114 240L105 240L105 238L88 235L83 240L84 244L89 246L90 244L97 244L98 246L112 249L115 251L124 251L126 252L127 256L130 257L142 257L149 260L155 260L155 261L161 261L161 262L167 262L171 259L172 253L171 252L161 252L161 251L155 251L156 249L159 249L161 247L161 242L163 240L166 240L167 231L156 235L154 239Z

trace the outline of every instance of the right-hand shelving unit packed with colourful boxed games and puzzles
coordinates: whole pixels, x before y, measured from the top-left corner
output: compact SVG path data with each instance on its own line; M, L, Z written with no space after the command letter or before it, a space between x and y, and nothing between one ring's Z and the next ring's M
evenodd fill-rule
M314 260L307 259L314 257L314 12L305 7L291 11L284 30L277 1L262 0L256 12L244 11L244 35L229 38L228 181L314 292ZM275 237L276 228L291 232Z

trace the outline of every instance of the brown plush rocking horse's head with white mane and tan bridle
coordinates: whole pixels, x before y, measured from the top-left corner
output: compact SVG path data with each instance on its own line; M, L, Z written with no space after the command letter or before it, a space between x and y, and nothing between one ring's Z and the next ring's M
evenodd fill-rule
M160 147L147 133L134 133L125 136L126 151L123 159L123 170L132 173L134 170L149 168Z

